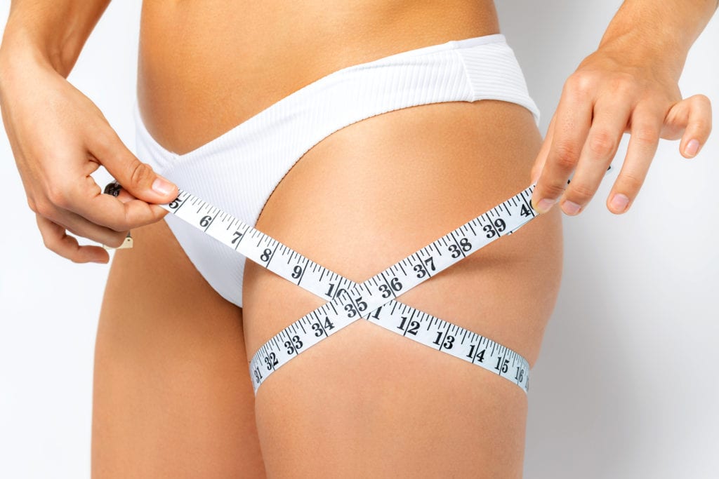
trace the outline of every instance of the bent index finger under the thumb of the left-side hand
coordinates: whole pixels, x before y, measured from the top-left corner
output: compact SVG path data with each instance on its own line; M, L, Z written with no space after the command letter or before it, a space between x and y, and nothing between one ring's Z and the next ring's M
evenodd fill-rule
M143 200L129 200L127 196L119 200L112 195L105 195L93 177L86 177L65 197L55 197L53 203L114 231L128 231L149 225L168 213L160 206Z

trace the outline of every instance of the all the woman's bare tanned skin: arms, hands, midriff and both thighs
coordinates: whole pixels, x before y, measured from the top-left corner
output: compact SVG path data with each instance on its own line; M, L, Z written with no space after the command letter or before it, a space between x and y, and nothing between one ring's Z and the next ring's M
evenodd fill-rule
M676 80L716 6L683 1L679 9L677 1L667 8L625 2L599 50L567 81L544 144L528 111L510 103L385 113L311 149L267 200L257 227L360 282L526 187L531 176L539 177L535 200L564 194L565 210L567 201L585 205L626 130L628 165L613 192L633 199L657 136L683 136L687 153L692 139L700 147L709 133L708 102L682 101ZM128 230L135 238L132 250L114 256L99 321L93 475L520 476L526 396L516 386L364 322L285 366L255 398L249 358L321 301L248 263L240 310L193 268L153 204L171 200L176 186L163 188L65 81L106 5L15 0L0 47L4 124L46 246L73 261L106 262L103 248L79 246L67 232L110 246ZM634 37L637 16L646 31ZM339 68L495 32L487 1L370 1L331 11L319 2L146 1L140 111L150 134L182 154ZM40 115L53 129L37 131ZM120 197L102 195L88 176L99 164L124 186ZM328 178L333 187L319 187ZM336 214L360 195L362 208ZM401 214L389 203L403 205ZM293 219L303 215L313 220ZM402 299L533 364L561 260L555 208Z

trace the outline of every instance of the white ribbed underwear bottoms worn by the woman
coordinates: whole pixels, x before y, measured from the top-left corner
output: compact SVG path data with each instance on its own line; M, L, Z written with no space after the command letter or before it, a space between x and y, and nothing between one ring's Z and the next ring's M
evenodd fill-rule
M150 136L135 101L136 153L180 189L254 226L293 164L334 131L409 106L487 99L524 106L539 122L539 110L502 34L336 70L186 154L170 152ZM244 257L174 215L165 221L211 287L242 307Z

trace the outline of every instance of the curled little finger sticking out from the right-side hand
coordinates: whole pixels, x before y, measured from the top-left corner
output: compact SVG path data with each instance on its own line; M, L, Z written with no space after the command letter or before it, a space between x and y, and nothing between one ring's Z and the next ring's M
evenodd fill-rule
M672 106L664 119L661 137L678 139L679 153L685 158L693 158L709 139L712 131L712 105L704 95L684 98Z

